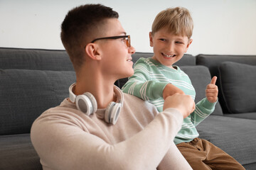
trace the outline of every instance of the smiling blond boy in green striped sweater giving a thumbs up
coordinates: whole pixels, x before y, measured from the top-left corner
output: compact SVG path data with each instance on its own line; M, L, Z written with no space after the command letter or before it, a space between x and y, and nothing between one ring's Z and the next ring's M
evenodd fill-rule
M134 75L129 77L122 90L153 103L163 111L164 99L175 93L188 94L194 99L196 91L188 75L174 63L183 57L191 45L193 20L186 8L167 8L155 18L149 33L154 56L141 58L134 64ZM218 100L217 77L206 87L206 98L183 120L174 142L193 169L243 169L223 150L198 138L196 125L214 111Z

